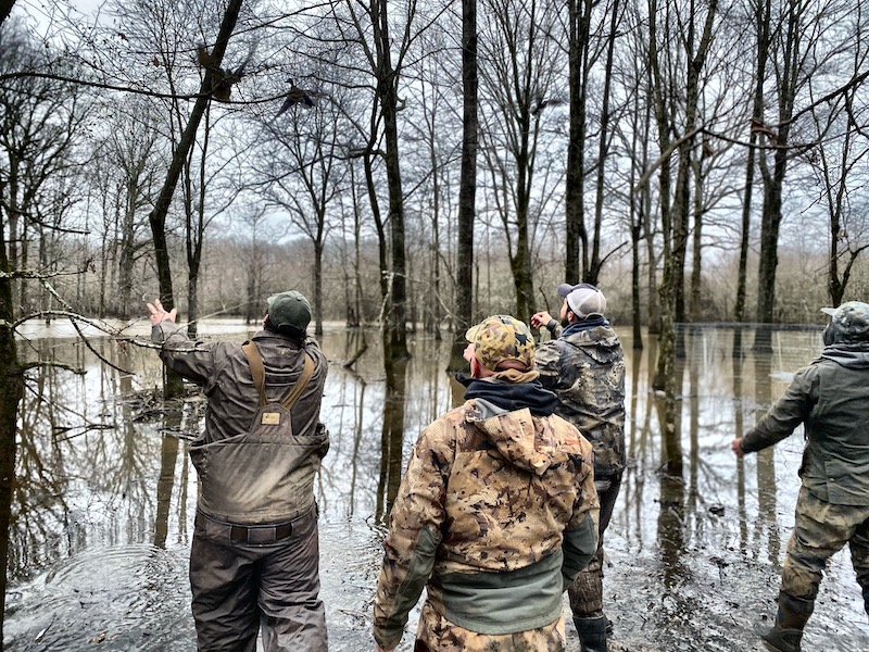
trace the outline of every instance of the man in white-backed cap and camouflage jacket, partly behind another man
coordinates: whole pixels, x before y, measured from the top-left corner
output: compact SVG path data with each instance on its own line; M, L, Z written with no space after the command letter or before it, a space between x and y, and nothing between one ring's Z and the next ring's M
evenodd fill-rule
M534 360L543 387L558 396L555 413L594 447L594 486L601 500L597 551L567 592L581 652L605 652L604 534L625 471L625 355L604 316L606 298L599 288L562 284L557 292L561 324L547 312L531 317L531 326L554 336L538 346Z

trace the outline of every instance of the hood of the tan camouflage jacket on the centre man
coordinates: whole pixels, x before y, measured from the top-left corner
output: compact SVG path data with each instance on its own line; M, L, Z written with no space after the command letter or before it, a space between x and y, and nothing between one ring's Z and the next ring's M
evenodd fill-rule
M517 468L542 476L567 460L550 418L532 416L528 408L507 411L487 399L471 399L465 406L468 423L486 434L495 450Z

